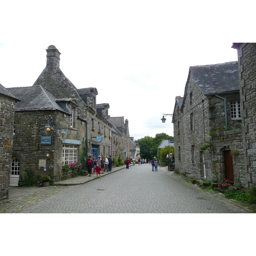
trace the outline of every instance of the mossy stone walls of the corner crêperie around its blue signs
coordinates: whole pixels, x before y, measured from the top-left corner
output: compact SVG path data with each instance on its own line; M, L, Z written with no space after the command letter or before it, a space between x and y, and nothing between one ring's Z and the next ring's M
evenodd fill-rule
M53 128L50 134L45 130L47 121ZM15 113L15 135L13 155L20 160L20 180L26 170L34 172L34 178L50 174L57 181L62 177L63 143L58 138L57 126L69 127L70 118L60 111L17 111ZM58 122L57 122L58 121ZM67 139L85 141L86 126L81 119L76 120L76 127L68 129ZM51 145L41 145L41 136L52 135ZM78 160L82 145L78 146ZM50 158L46 154L50 154ZM44 166L47 171L44 171Z

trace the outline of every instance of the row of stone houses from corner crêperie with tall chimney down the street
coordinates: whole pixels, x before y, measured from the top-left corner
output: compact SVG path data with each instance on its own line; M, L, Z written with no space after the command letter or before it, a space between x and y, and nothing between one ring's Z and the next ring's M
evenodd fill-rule
M116 150L112 133L118 128L113 129L108 120L109 104L96 104L96 88L77 89L67 79L55 46L46 51L46 67L32 87L8 88L15 96L22 96L15 113L13 153L20 165L17 181L26 170L34 171L35 176L47 172L59 180L64 177L63 164L80 162L81 157L86 160L88 155L96 159L98 155L109 156ZM48 125L50 130L46 131ZM125 153L126 133L118 135Z

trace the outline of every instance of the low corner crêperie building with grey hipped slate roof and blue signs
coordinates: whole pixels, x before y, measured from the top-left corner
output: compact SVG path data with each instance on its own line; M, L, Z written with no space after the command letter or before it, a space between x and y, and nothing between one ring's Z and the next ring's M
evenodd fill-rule
M54 180L64 177L62 165L80 160L86 139L86 120L77 115L76 99L56 99L40 85L8 88L20 97L15 110L12 158L20 176L11 177L17 186L25 172L34 178L49 173Z

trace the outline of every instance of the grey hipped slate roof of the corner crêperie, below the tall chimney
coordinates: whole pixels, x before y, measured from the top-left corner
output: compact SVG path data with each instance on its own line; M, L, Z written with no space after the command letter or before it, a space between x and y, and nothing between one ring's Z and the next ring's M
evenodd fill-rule
M41 86L13 87L8 90L21 99L15 105L16 111L59 110L71 114L55 102L55 97Z

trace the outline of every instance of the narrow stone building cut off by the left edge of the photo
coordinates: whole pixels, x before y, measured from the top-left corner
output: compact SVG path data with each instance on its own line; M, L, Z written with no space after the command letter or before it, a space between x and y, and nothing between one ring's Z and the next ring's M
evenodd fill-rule
M0 84L0 201L9 198L10 176L18 175L12 162L15 103L20 100Z

